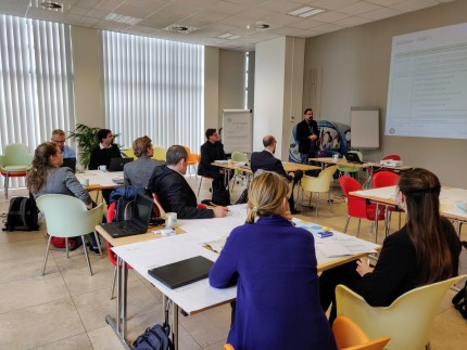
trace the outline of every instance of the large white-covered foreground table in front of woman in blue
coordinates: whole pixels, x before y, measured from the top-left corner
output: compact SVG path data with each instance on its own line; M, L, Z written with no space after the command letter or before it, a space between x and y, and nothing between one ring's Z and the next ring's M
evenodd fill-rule
M178 220L177 235L164 237L160 234L151 233L157 229L142 235L130 237L113 238L101 226L96 230L109 241L114 247L112 250L117 255L117 310L116 321L111 315L105 317L109 325L115 330L119 340L128 347L126 342L126 319L127 319L127 265L138 272L147 281L153 284L163 294L163 310L165 320L168 321L167 304L172 303L172 339L175 349L178 349L178 310L192 315L204 310L209 310L236 299L237 288L216 289L209 285L207 278L194 282L187 286L171 289L164 284L149 275L148 270L162 267L172 262L188 259L194 256L203 256L215 261L218 254L206 248L211 242L226 239L228 234L238 225L244 223L247 218L247 206L237 205L229 207L229 215L226 218L204 219L204 220ZM295 220L296 225L314 225ZM161 239L156 239L161 238ZM326 256L321 249L335 247L336 245L349 245L352 249L349 254L336 257ZM318 271L325 271L342 263L356 260L368 254L375 252L380 246L333 231L333 236L328 238L315 238ZM141 329L142 332L143 329Z

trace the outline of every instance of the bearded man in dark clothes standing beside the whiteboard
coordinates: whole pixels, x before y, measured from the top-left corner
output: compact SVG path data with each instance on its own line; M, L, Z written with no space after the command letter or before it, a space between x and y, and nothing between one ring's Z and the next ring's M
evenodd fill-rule
M302 164L308 164L308 158L316 158L319 151L318 125L313 120L313 109L303 112L304 119L296 125L296 139Z

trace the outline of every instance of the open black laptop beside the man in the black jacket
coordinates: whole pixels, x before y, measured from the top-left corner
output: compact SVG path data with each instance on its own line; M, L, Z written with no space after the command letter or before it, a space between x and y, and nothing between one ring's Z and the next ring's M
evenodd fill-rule
M102 228L113 237L126 237L148 231L149 218L152 212L152 198L137 194L131 220L102 223Z

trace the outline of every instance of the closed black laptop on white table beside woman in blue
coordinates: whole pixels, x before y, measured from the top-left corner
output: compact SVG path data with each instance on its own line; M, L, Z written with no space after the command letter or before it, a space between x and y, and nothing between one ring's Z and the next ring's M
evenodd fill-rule
M206 278L213 264L210 259L198 256L148 270L148 273L171 289L175 289Z

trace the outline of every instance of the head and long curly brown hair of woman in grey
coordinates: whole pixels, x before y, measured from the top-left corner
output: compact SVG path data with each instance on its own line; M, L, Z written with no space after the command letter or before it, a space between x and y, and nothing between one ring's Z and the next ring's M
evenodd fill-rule
M63 155L54 142L45 142L34 152L33 168L26 177L26 185L33 193L39 192L46 182L47 169L58 168L63 164Z

